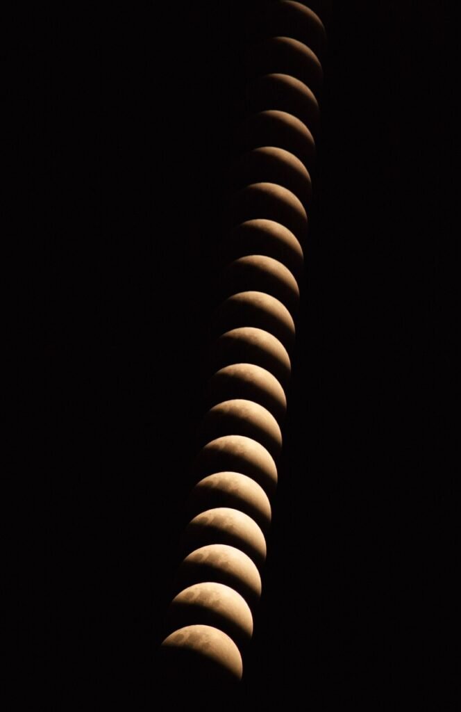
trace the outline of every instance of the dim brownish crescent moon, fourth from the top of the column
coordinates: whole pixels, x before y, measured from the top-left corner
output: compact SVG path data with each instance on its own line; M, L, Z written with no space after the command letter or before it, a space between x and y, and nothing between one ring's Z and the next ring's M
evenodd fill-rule
M314 164L312 133L300 119L286 111L268 109L250 115L236 130L235 142L241 152L275 146L297 156L307 170Z

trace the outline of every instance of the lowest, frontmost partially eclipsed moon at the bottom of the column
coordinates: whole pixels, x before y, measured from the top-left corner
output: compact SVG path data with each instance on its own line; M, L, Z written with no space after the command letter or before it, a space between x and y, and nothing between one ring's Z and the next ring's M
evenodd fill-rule
M162 672L173 684L206 691L211 685L240 681L240 651L233 640L209 625L189 625L171 633L161 644Z

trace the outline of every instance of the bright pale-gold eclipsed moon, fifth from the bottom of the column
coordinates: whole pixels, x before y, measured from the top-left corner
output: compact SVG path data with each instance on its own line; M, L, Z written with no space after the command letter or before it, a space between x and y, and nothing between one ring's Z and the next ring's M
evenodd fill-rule
M263 531L270 525L267 494L257 482L240 472L216 472L204 477L191 491L186 507L191 516L213 507L230 507L248 514Z

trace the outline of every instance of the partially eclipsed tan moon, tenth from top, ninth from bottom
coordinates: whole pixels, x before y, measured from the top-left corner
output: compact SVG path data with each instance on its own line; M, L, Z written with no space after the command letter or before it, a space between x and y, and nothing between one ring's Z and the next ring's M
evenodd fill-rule
M235 363L254 363L265 368L282 387L290 382L291 362L285 346L263 329L240 327L227 331L216 340L211 355L213 370Z

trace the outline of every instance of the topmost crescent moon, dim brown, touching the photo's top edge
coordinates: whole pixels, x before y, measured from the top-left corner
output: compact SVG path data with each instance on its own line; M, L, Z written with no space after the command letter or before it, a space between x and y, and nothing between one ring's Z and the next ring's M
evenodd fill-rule
M317 57L322 57L327 48L327 34L324 24L309 6L292 0L270 3L264 18L258 16L253 36L282 35L292 37L312 49Z

